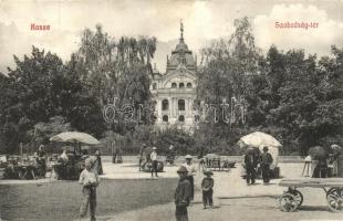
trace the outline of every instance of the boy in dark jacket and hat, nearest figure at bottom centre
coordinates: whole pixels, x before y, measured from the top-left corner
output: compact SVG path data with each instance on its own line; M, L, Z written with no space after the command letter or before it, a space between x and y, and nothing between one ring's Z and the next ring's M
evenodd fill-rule
M191 185L187 179L188 170L186 167L180 166L177 173L179 176L179 181L174 194L176 206L175 217L177 221L188 221L187 207L190 202L191 189Z

